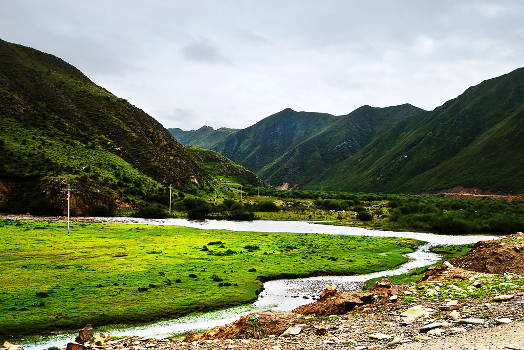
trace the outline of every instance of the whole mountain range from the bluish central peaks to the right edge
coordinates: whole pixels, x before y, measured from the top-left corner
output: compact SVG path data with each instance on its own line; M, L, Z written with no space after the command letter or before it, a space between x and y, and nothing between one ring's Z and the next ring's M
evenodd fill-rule
M461 185L523 193L523 117L520 68L433 111L363 106L335 117L288 108L199 144L285 188L420 193Z

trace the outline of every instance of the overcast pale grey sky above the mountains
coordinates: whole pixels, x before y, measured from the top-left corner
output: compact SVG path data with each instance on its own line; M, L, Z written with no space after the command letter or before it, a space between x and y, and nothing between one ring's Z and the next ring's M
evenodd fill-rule
M522 18L521 0L0 0L0 38L194 130L288 107L434 109L524 66Z

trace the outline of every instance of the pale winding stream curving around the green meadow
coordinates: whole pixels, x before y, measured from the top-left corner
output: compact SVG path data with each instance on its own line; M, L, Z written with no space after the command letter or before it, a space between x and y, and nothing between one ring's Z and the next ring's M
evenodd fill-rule
M16 218L28 220L64 220L63 217L34 217L34 216L5 216L0 218ZM250 305L238 306L230 309L192 314L179 319L160 321L145 326L126 326L114 328L105 333L114 336L138 335L147 337L165 337L172 333L190 330L209 329L216 325L231 323L241 315L254 311L277 309L291 311L297 306L312 301L318 297L328 285L334 285L337 290L351 291L361 289L364 281L384 275L399 275L416 267L427 266L441 259L439 254L431 253L430 249L436 245L471 244L482 240L496 239L488 235L440 235L418 232L379 231L357 227L343 227L334 225L316 224L305 221L191 221L187 219L137 219L137 218L89 218L75 217L77 222L119 222L151 225L178 225L208 230L231 230L250 232L293 232L293 233L319 233L343 234L359 236L380 236L412 238L428 242L418 247L417 251L406 254L410 260L400 267L359 276L320 276L310 278L279 279L264 283L264 291L258 299ZM309 299L304 299L303 297ZM76 334L60 334L57 336L40 338L31 342L22 342L26 349L44 349L49 346L65 347L67 342L74 340Z

